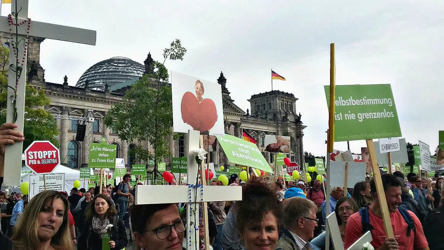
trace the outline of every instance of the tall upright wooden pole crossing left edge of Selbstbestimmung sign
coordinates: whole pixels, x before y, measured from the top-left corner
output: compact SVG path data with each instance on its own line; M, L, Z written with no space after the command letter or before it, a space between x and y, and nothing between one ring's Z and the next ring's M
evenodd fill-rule
M330 213L330 154L333 153L334 142L334 110L335 110L335 90L336 90L336 63L334 61L334 43L330 44L330 105L329 105L329 130L327 130L327 187L326 194L326 214ZM325 249L330 249L329 225L326 223Z

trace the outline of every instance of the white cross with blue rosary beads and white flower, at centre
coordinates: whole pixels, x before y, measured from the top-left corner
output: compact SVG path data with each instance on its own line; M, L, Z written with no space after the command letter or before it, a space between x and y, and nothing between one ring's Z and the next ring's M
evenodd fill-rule
M198 166L196 164L193 150L199 148L199 131L189 130L189 147L188 147L188 169L187 169L187 182L189 184L195 184L193 181L197 178ZM149 186L149 185L137 185L135 204L165 204L165 203L189 203L189 190L188 186ZM197 192L197 203L201 201L200 189L191 189L192 204L194 205L195 192ZM240 201L242 200L242 187L228 187L228 186L204 186L203 187L203 202L218 202L218 201ZM194 207L194 206L192 206ZM189 209L189 208L188 208ZM205 209L205 208L204 208ZM197 212L197 214L199 214ZM199 216L191 217L189 210L186 213L186 231L191 229L190 221L193 225L199 225ZM208 230L208 227L207 227ZM206 232L208 233L208 232ZM188 233L189 234L189 233ZM189 235L184 237L187 250L198 250L199 239L197 244L195 242L194 233L191 233L191 247L189 246Z

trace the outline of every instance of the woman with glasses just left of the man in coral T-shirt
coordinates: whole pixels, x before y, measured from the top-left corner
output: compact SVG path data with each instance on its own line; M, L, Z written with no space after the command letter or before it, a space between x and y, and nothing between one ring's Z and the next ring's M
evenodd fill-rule
M348 197L340 198L336 203L336 208L334 213L336 214L337 224L339 226L339 232L341 233L342 243L345 240L345 226L347 225L347 220L353 213L359 210L358 205L355 200ZM314 238L311 242L312 245L318 247L319 249L325 249L325 231L318 237ZM333 244L330 243L330 249L333 250Z

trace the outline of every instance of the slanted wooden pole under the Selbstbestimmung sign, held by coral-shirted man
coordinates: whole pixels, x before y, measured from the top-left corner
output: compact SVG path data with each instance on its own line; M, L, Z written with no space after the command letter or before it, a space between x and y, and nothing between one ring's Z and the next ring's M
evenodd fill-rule
M368 139L367 147L370 153L370 162L373 170L373 178L376 184L376 193L378 194L379 207L381 208L382 219L384 220L385 234L387 238L394 238L392 222L390 221L390 212L385 199L384 187L382 186L381 172L379 171L378 160L376 159L376 151L374 149L373 139Z

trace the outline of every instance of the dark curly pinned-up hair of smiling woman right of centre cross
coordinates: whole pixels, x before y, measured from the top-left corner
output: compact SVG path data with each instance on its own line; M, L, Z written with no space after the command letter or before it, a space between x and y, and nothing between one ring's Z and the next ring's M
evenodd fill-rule
M282 202L276 192L261 178L251 178L242 192L242 201L235 205L236 225L240 233L252 222L262 221L263 214L271 211L276 217L278 230L282 228Z

